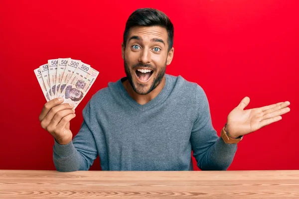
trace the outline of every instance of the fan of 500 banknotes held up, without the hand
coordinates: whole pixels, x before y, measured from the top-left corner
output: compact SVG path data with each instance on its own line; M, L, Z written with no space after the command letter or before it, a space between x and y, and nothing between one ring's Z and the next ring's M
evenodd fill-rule
M47 101L61 97L63 103L72 103L74 108L99 75L90 65L71 58L50 59L34 73Z

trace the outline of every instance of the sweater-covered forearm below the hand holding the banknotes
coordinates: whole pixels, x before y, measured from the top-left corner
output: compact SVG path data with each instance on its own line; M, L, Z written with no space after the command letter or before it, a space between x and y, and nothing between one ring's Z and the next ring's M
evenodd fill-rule
M72 141L67 145L60 145L56 140L54 141L53 162L57 171L70 172L89 169L85 159L77 151Z

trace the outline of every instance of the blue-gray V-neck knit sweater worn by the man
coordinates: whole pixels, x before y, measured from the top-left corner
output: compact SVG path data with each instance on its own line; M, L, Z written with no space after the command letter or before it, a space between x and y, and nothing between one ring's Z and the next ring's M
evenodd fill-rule
M99 155L102 170L226 170L237 144L226 144L212 126L203 89L181 76L165 75L162 91L148 103L133 100L120 79L98 91L83 109L72 142L54 140L57 171L88 170Z

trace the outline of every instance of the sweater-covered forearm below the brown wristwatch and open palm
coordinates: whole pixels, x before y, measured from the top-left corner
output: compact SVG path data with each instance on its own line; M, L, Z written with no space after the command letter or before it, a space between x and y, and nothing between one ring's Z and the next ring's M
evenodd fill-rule
M220 137L204 153L199 168L201 170L227 170L237 151L237 144L226 144Z

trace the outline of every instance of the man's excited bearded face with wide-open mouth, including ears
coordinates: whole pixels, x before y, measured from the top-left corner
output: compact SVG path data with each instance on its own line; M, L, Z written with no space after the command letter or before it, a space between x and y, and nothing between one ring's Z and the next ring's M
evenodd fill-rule
M160 26L130 29L122 55L126 75L137 94L149 94L163 79L174 50L168 52L167 39L166 28Z

